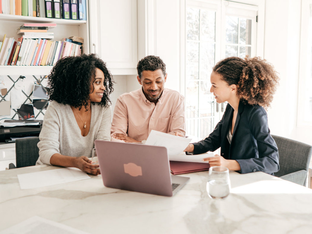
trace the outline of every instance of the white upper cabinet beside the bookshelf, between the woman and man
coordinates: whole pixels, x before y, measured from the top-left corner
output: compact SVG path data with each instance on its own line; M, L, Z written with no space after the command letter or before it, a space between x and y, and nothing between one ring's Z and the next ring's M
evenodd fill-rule
M90 0L90 51L113 75L136 75L137 1Z

